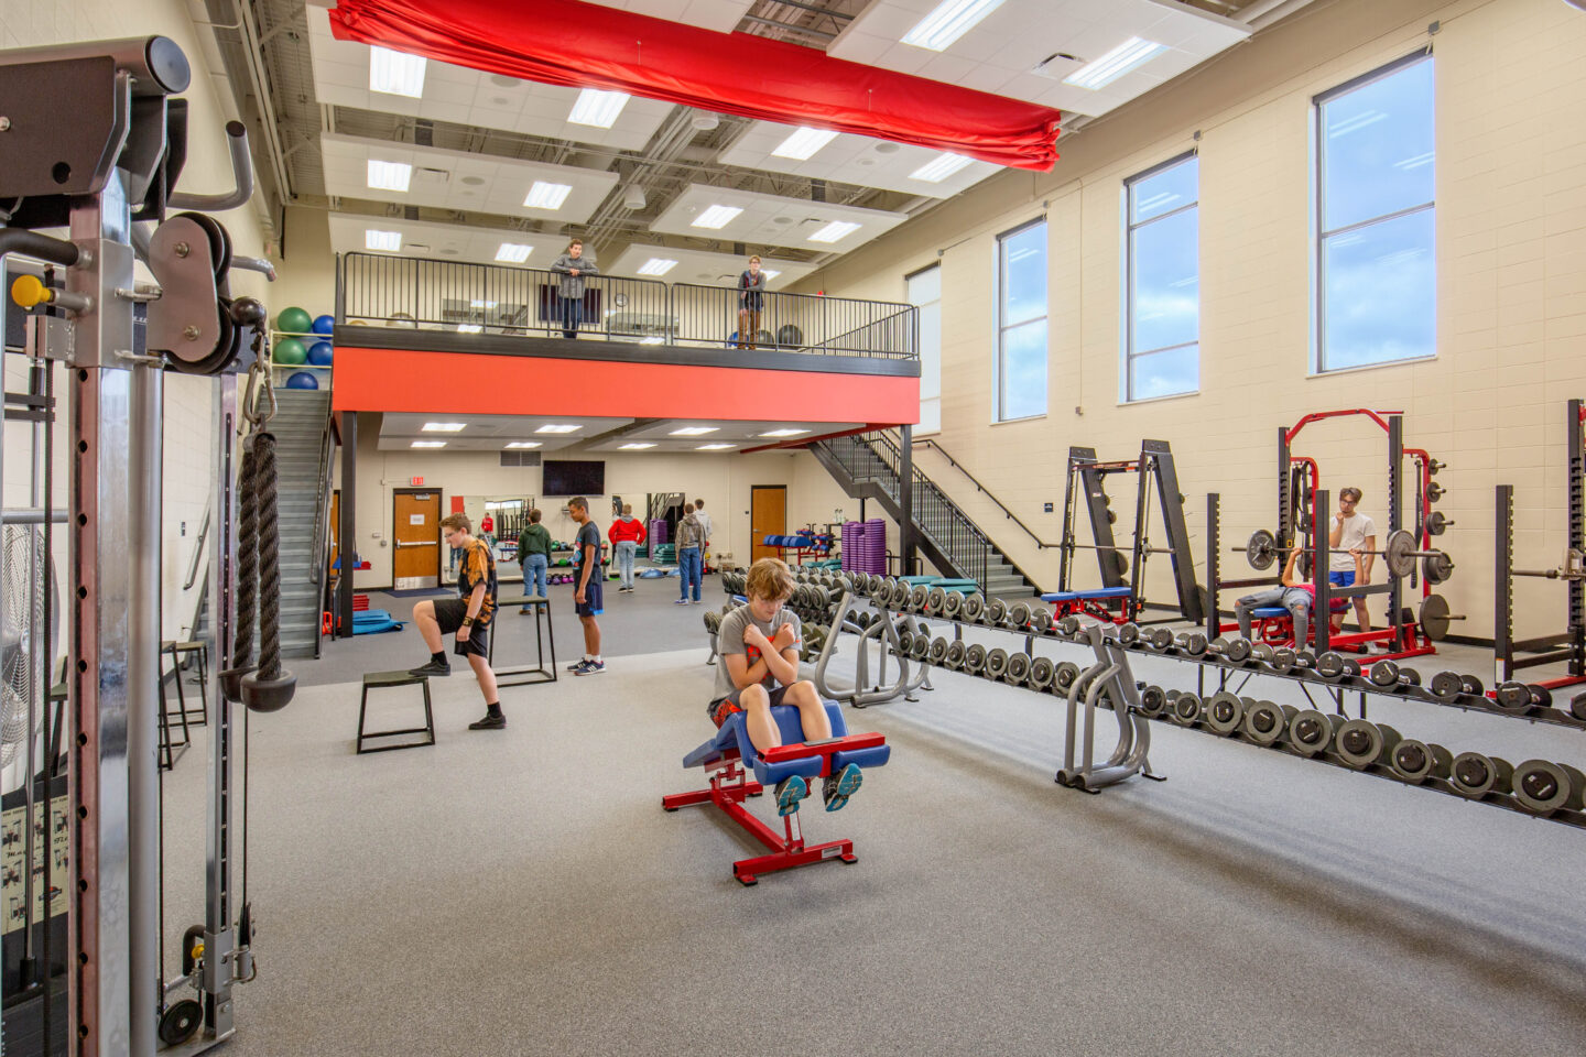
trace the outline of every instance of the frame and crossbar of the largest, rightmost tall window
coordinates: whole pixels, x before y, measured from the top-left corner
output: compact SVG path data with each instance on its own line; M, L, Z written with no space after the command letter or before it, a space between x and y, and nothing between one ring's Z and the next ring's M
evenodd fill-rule
M1312 339L1310 372L1312 372L1313 377L1315 376L1321 376L1321 374L1343 374L1343 372L1348 372L1348 371L1372 371L1372 369L1377 369L1377 368L1393 368L1393 366L1399 366L1399 364L1404 364L1404 363L1426 363L1427 360L1435 360L1437 358L1437 336L1435 336L1435 333L1437 333L1437 252L1435 252L1435 244L1434 244L1434 252L1432 252L1432 333L1434 333L1434 338L1432 338L1432 352L1427 353L1427 355L1424 355L1424 357L1410 357L1410 358L1405 358L1405 360L1375 360L1372 363L1354 363L1354 364L1350 364L1350 366L1345 366L1345 368L1329 368L1327 366L1327 268L1326 268L1326 265L1327 265L1327 241L1332 239L1332 238L1337 238L1340 235L1350 235L1351 231L1361 231L1364 228L1375 227L1378 223L1385 223L1388 220L1399 220L1399 219L1412 217L1412 216L1416 216L1419 212L1427 212L1427 211L1432 212L1434 239L1435 239L1435 223L1437 223L1437 176L1435 176L1435 170L1434 170L1434 176L1432 176L1432 198L1427 200L1426 203L1421 203L1418 206L1408 206L1408 208L1404 208L1404 209L1396 209L1393 212L1385 212L1385 214L1380 214L1380 216L1375 216L1375 217L1367 217L1364 220L1356 220L1353 223L1347 223L1347 225L1343 225L1340 228L1334 228L1334 230L1329 231L1324 227L1326 225L1326 217L1327 217L1327 179L1326 179L1326 174L1327 174L1327 170L1326 170L1326 165L1327 165L1327 160L1326 160L1326 154L1327 154L1327 130L1326 130L1326 122L1321 117L1323 106L1326 106L1332 100L1340 98L1343 95L1348 95L1350 92L1362 89L1362 87L1366 87L1369 84L1375 84L1377 81L1385 81L1385 79L1394 76L1396 73L1402 73L1404 70L1408 70L1413 65L1418 65L1418 63L1423 63L1423 62L1432 62L1432 60L1434 60L1432 48L1431 46L1419 48L1419 49L1410 52L1408 55L1400 55L1399 59L1394 59L1393 62L1388 62L1388 63L1385 63L1381 67L1375 67L1372 70L1367 70L1366 73L1362 73L1359 76L1354 76L1354 78L1350 78L1343 84L1335 84L1331 89L1327 89L1326 92L1318 92L1316 95L1313 95L1310 98L1312 154L1313 154L1313 163L1310 166L1310 179L1312 179L1312 185L1315 189L1313 193L1312 193L1313 206L1312 206L1312 214L1310 214L1310 230L1312 230L1312 314L1315 317L1315 325L1310 330L1310 339ZM1435 68L1434 68L1434 74L1432 74L1432 86L1434 86L1432 141L1435 144L1437 143L1437 108L1435 108L1437 74L1435 74ZM1435 158L1434 158L1434 165L1435 165Z

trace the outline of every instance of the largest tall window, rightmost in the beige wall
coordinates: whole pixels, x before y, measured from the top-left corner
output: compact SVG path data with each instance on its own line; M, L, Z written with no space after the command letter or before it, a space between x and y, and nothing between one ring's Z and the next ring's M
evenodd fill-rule
M1316 369L1437 353L1432 59L1316 97Z

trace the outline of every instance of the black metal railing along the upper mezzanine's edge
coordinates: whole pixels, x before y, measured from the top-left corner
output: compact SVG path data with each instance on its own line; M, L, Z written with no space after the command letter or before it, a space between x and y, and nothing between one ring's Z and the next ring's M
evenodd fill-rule
M917 360L918 309L887 301L585 276L582 300L539 268L344 254L341 323L517 336L588 334L655 345L757 347Z

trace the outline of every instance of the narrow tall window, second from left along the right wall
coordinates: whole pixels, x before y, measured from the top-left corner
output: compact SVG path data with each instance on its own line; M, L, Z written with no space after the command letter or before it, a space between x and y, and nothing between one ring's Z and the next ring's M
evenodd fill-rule
M1047 414L1047 222L998 236L998 422Z

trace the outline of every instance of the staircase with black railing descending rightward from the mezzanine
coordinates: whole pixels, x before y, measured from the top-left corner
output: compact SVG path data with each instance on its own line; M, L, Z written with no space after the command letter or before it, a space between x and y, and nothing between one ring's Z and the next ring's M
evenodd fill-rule
M815 460L855 499L874 499L898 523L898 467L902 452L883 434L831 437L809 445ZM1040 588L1007 559L991 537L942 491L912 467L914 528L920 550L933 566L952 577L974 580L986 597L1029 597Z

